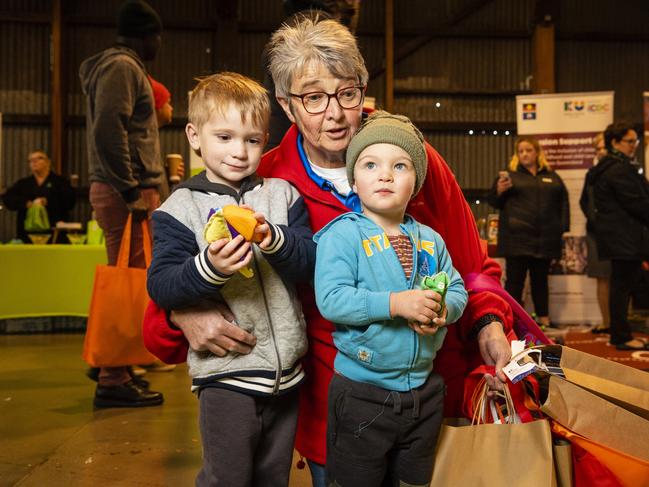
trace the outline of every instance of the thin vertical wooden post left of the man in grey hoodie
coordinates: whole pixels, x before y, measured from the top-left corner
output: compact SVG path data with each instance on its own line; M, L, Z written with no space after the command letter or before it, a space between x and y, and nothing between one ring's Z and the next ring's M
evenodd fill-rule
M52 37L50 40L51 71L51 133L50 157L56 172L63 172L63 70L61 68L61 0L52 1ZM36 149L32 147L30 150Z

